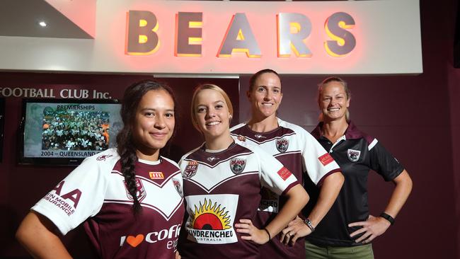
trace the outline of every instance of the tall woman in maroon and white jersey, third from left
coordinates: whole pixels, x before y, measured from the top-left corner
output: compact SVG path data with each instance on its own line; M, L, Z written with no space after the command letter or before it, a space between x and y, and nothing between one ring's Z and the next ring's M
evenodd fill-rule
M280 233L280 236L259 247L262 258L299 259L305 256L302 237L314 231L333 205L342 187L343 175L338 164L309 132L277 117L283 97L282 88L280 76L272 69L263 69L253 74L246 93L251 103L251 119L232 127L231 134L234 137L244 137L246 142L260 146L283 163L300 183L307 183L306 191L309 195L311 190L307 186L321 188L321 198L314 209L296 221L299 224L297 228L286 232L287 238L284 241L289 239L289 246L282 243L284 236ZM283 206L283 197L264 188L257 214L258 224L270 224L270 220Z

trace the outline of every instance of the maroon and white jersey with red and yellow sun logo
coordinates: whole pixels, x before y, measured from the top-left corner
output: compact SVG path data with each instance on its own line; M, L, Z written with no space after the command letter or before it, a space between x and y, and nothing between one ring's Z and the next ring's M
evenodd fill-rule
M254 221L262 186L282 195L298 183L295 176L257 146L238 142L217 153L203 145L179 165L188 214L182 258L260 258L258 245L241 240L234 224Z

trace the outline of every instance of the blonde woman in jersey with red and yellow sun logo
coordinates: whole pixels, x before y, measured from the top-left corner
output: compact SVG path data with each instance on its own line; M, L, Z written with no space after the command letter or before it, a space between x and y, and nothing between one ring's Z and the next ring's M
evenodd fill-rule
M258 146L234 141L229 124L233 107L212 84L192 97L192 123L205 137L202 146L180 160L188 217L179 245L183 258L260 258L263 244L294 219L308 195L292 173ZM270 224L253 224L264 186L286 197Z

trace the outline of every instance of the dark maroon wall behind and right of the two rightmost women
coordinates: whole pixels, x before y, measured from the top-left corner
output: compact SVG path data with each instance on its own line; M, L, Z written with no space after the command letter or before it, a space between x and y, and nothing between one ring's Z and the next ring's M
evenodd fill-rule
M414 183L396 224L373 242L376 258L459 258L460 69L452 66L456 2L442 4L421 1L423 74L341 76L352 91L351 119L403 163ZM316 85L325 77L282 76L280 117L313 129ZM241 77L241 91L248 79ZM246 120L245 96L240 108ZM393 185L372 173L368 190L369 207L378 215Z

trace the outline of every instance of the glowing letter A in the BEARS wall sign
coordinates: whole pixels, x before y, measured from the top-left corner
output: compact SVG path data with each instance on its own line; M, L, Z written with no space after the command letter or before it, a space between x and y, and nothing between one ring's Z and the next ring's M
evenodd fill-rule
M231 57L231 52L246 52L248 57L262 55L244 13L235 13L231 19L217 57Z

